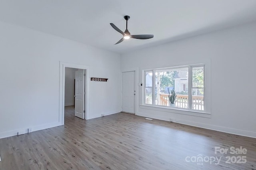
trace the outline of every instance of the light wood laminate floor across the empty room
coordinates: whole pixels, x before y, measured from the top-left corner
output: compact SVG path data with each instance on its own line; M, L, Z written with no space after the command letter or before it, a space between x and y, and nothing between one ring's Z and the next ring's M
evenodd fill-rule
M214 153L232 146L247 153ZM0 139L0 155L0 170L254 170L256 139L128 113L86 121L71 106L63 126ZM193 162L200 156L205 161ZM207 162L210 156L220 163ZM227 164L226 156L246 156L246 163Z

